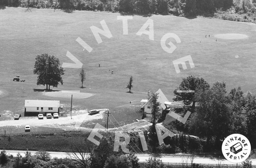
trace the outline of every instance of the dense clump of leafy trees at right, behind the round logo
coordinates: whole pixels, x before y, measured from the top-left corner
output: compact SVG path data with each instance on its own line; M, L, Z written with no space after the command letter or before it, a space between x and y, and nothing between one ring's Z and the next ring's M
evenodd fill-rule
M184 78L180 87L184 84L189 86L196 79L194 76ZM204 138L205 141L201 144L206 151L220 149L222 141L233 133L246 136L252 148L256 148L256 95L251 92L244 94L241 87L227 92L224 82L216 82L209 88L200 87L196 87L195 93L188 93L197 105L189 109L192 114L186 124L173 121L166 126L173 132L189 132L190 135ZM187 110L184 109L181 113L186 113Z

